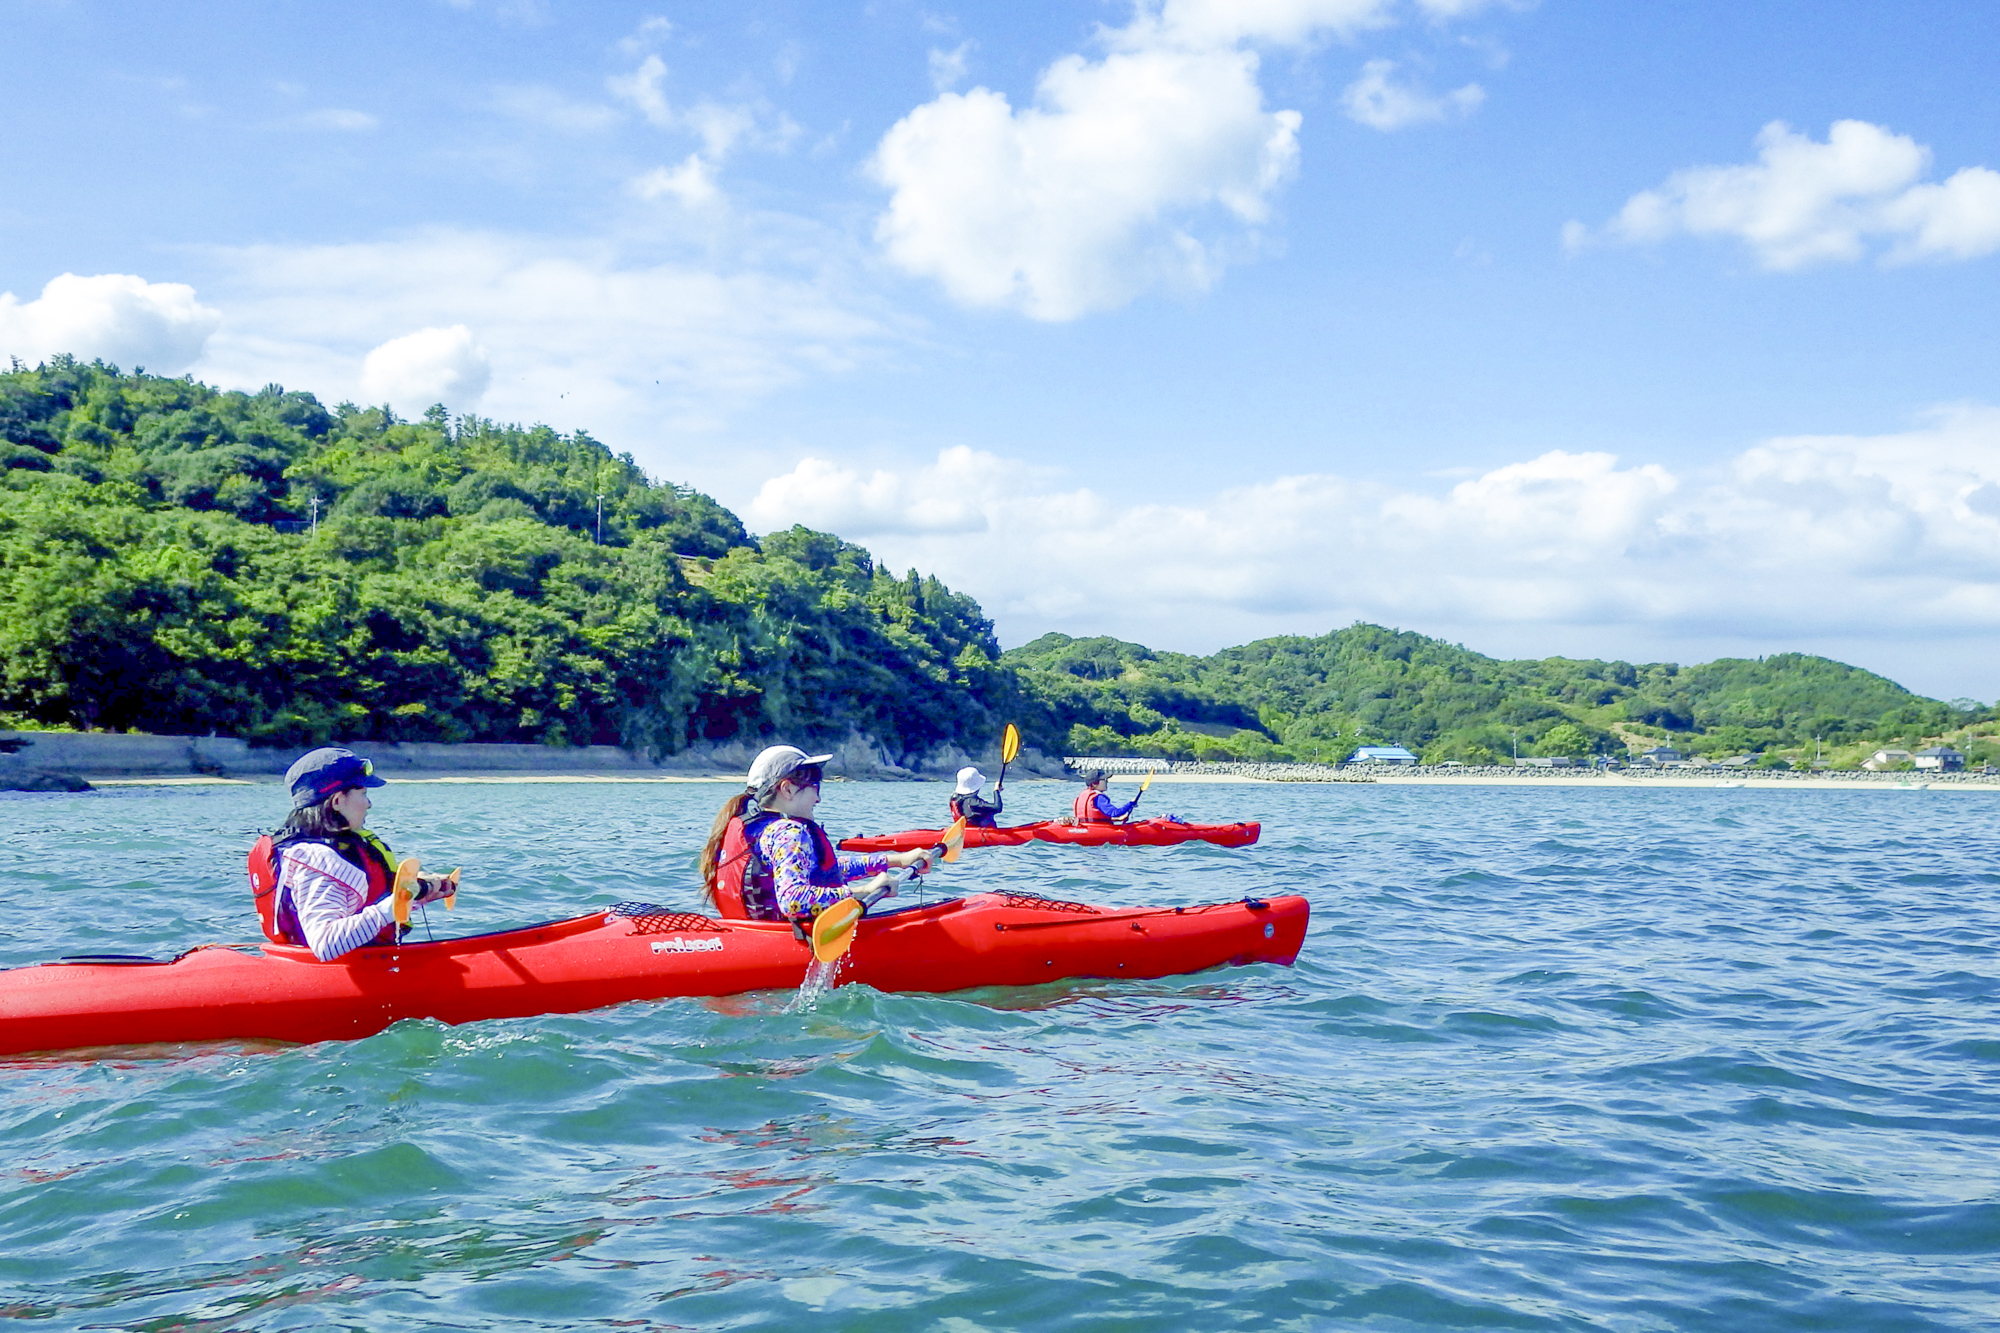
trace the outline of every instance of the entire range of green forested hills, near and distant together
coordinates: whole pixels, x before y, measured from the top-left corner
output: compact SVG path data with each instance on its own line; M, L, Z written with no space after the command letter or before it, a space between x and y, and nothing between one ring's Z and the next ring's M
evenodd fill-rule
M1214 656L1046 634L762 540L584 432L58 358L0 372L0 725L354 741L838 741L1428 759L1920 739L1992 717L1816 656L1510 662L1354 624Z

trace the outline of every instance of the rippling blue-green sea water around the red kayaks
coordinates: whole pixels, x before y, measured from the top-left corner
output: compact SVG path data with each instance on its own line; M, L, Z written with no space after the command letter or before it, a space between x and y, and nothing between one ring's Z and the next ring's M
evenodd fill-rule
M694 907L720 787L392 785L438 933ZM1046 817L1062 785L1016 783ZM828 785L836 833L938 785ZM1292 969L636 1003L0 1063L36 1329L1992 1329L2000 795L1154 787ZM274 787L0 801L0 963L256 935Z

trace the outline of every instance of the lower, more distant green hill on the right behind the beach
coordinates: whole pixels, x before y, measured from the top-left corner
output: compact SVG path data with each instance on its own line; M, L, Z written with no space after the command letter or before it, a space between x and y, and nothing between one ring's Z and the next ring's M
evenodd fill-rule
M1586 755L1646 741L1716 755L1810 749L1814 737L1914 741L1990 717L1798 652L1700 666L1500 660L1378 624L1214 656L1044 634L1000 660L1042 705L1042 725L1092 755L1332 759L1404 745L1478 763L1516 745Z

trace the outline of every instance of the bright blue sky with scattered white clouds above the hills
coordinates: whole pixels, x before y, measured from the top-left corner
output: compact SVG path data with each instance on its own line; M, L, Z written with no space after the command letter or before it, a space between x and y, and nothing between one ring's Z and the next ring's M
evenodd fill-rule
M0 12L0 354L586 428L1010 644L2000 695L2000 8Z

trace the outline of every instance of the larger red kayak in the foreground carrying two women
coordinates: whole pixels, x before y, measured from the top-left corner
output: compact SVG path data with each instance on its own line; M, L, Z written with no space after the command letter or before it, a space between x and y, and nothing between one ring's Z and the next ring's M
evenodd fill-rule
M1290 965L1306 899L1090 907L980 893L864 917L838 985L1020 987ZM796 989L812 949L788 923L648 903L498 935L356 949L206 945L178 959L96 957L0 971L0 1055L154 1041L338 1041L400 1019L472 1023L682 995Z

